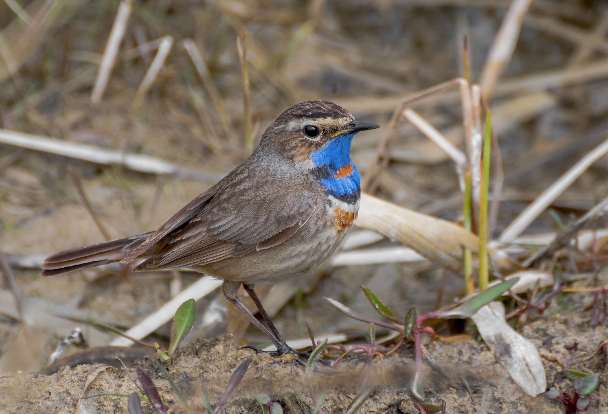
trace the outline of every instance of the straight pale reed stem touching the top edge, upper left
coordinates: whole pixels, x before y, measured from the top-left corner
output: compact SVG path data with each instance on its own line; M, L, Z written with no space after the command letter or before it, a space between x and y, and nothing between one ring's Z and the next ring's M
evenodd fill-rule
M91 94L91 103L96 105L102 100L103 91L108 86L108 80L123 37L125 36L126 24L129 21L131 15L131 4L128 1L120 2L112 30L110 32L108 43L106 43L106 49L103 52L102 63L99 65L97 71L97 78L95 78L95 85L93 86L93 92Z

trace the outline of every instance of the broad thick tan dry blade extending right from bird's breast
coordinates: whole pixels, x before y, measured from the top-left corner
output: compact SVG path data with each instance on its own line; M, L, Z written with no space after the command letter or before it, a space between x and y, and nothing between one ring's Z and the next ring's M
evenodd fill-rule
M438 219L363 193L358 227L404 244L430 261L454 272L463 271L462 248L478 252L478 238L457 224ZM505 255L488 251L495 270L509 274L519 266Z

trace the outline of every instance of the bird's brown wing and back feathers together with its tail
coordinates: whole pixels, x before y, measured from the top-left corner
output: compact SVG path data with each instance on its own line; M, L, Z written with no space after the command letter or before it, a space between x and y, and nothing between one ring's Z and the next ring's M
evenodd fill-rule
M43 276L136 258L147 258L134 270L188 267L227 257L241 257L288 240L314 211L317 196L306 191L285 193L277 185L260 197L238 172L229 174L171 217L156 232L144 233L48 257ZM234 174L234 175L232 175ZM232 175L232 177L230 177ZM232 185L241 191L230 191ZM223 191L224 188L229 191ZM273 190L273 188L271 188ZM243 209L243 206L247 206Z

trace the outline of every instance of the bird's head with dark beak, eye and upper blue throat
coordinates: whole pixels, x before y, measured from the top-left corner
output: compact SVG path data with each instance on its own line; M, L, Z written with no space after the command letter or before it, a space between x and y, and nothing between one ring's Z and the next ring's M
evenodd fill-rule
M326 101L298 103L266 129L260 147L274 147L297 167L311 170L350 164L350 143L360 131L379 128L359 122L341 106Z

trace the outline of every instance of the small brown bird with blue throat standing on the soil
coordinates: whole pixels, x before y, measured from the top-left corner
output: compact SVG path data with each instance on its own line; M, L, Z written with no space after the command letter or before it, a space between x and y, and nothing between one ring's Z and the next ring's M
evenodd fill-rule
M336 251L359 210L361 187L350 146L359 122L325 101L303 102L266 129L254 153L158 230L67 250L44 261L43 276L144 259L134 271L185 267L224 280L222 292L263 331L277 354L292 350L254 285L314 271ZM268 328L237 297L243 285Z

